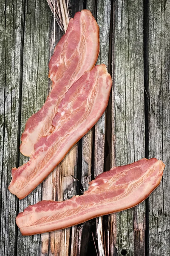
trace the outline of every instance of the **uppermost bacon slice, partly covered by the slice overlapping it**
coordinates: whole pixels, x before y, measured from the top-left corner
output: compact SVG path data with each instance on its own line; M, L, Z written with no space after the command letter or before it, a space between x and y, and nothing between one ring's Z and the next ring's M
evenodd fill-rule
M52 90L43 107L26 122L20 152L31 156L37 140L49 133L59 103L68 89L86 70L91 70L99 55L99 27L88 10L77 12L57 44L49 63Z

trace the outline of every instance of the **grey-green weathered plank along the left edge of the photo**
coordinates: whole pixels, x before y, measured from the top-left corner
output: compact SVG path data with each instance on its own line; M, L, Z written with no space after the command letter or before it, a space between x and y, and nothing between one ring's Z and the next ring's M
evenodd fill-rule
M18 164L17 133L23 39L22 1L0 1L0 255L14 255L16 198L8 191Z

